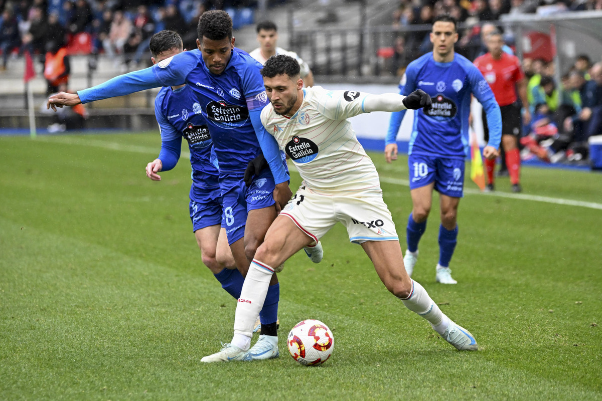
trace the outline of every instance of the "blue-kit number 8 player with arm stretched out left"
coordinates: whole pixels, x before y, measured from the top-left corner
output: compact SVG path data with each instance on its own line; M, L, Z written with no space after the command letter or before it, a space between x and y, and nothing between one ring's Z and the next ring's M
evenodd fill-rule
M234 47L232 19L225 11L203 13L197 33L198 50L182 52L77 94L58 93L48 99L47 106L73 106L184 83L192 88L197 101L188 107L194 114L203 114L209 123L219 161L228 243L244 276L265 232L291 197L289 176L278 144L261 124L261 110L268 103L259 74L261 64ZM244 171L261 152L269 168L258 171L247 188ZM314 251L320 254L320 246ZM261 335L250 350L254 359L278 357L278 300L279 285L274 276L259 315Z

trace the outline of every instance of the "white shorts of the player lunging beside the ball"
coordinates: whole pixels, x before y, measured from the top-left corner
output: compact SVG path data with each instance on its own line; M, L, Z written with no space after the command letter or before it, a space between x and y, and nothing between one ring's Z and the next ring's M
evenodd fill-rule
M282 210L316 242L338 221L347 227L349 240L398 240L391 212L379 193L324 195L302 185Z

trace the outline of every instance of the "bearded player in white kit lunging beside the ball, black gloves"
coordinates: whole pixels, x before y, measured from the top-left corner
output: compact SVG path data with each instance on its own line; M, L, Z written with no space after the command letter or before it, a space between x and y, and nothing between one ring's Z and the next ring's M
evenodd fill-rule
M445 316L424 287L406 273L378 173L347 120L371 111L429 108L430 97L421 90L405 97L303 89L299 63L287 55L271 57L261 75L270 99L261 122L293 160L303 183L255 253L238 299L231 343L201 361L250 360L253 322L275 273L273 266L281 266L337 222L347 227L352 242L364 248L386 289L457 349L477 350L473 335Z

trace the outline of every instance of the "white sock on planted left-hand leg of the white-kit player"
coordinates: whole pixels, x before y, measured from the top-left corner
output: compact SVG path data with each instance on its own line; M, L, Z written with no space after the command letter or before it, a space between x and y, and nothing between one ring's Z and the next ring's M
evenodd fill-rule
M242 339L237 334L248 337L250 343L250 338L253 336L253 325L263 307L273 274L274 269L265 265L265 263L261 263L256 259L251 262L247 277L244 278L240 298L238 298L234 317L234 337L231 344L244 350L248 349L248 344L246 348L238 345L242 343Z

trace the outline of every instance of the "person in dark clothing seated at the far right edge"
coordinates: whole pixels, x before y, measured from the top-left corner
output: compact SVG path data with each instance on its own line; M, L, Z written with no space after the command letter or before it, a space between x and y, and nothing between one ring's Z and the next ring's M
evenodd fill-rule
M573 141L585 142L592 135L600 135L602 128L602 63L590 70L591 81L580 88L582 109L573 118L566 118L564 129L573 132Z

